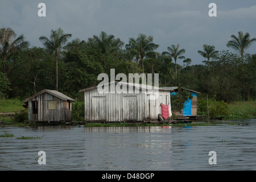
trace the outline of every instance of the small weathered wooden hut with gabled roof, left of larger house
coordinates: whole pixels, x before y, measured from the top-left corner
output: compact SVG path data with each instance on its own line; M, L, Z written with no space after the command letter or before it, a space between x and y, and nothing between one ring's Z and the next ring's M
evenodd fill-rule
M56 90L44 89L23 103L28 107L28 120L35 122L72 121L72 98Z

